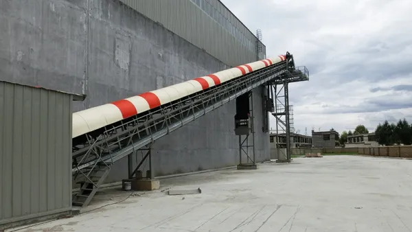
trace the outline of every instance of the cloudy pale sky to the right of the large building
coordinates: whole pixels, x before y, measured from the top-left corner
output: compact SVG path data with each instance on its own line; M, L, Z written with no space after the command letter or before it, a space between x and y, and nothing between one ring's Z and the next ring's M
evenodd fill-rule
M300 134L412 123L411 0L221 1L262 30L267 58L289 51L308 68L309 81L289 84Z

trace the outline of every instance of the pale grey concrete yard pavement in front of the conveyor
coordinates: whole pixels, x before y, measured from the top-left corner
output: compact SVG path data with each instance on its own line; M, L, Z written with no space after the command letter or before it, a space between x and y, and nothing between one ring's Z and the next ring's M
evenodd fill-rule
M167 191L21 231L411 231L412 161L365 156L297 158L258 170L161 180ZM126 198L102 194L91 207ZM107 200L103 200L107 198Z

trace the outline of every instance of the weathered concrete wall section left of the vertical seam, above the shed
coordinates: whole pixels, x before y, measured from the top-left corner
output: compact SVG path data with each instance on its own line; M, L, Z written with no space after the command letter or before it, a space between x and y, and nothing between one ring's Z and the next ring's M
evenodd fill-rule
M83 93L85 19L65 1L0 1L1 79Z

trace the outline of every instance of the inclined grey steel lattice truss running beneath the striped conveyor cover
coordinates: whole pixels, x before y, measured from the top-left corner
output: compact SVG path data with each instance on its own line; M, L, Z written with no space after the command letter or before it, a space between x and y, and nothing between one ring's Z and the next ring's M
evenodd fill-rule
M93 174L101 169L104 172L96 177L98 181L87 182L97 191L110 171L111 165L119 159L149 146L157 139L235 100L236 97L271 80L279 79L286 72L288 67L285 60L76 137L73 139L72 149L73 178L76 180L82 178L90 182ZM87 201L83 201L82 205L90 202L95 191L90 192L90 199L88 196Z

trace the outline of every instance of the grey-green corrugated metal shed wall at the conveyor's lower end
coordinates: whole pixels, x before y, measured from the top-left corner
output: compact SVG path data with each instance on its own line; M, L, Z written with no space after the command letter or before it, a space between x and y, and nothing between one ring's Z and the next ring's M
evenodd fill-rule
M0 225L71 209L72 98L0 81Z

